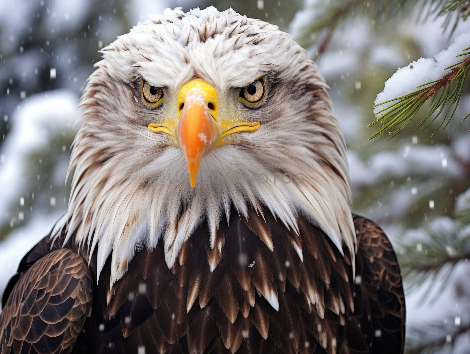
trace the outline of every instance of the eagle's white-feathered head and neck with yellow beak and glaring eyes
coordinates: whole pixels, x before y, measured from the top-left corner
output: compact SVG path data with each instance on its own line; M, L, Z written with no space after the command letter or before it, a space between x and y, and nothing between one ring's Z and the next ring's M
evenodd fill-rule
M232 9L166 9L102 55L55 228L97 252L98 275L112 253L112 284L161 238L172 267L202 222L222 247L232 208L269 210L293 230L302 215L354 254L344 136L324 79L289 34Z

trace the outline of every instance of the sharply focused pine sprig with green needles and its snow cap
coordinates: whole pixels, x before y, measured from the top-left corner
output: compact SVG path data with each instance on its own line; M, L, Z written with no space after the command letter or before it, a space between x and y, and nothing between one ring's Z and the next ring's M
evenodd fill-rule
M441 122L432 135L441 126L445 128L454 116L470 70L469 46L470 31L462 33L449 48L434 58L421 58L396 71L385 82L384 91L376 97L376 119L369 126L379 122L382 126L370 139L387 131L389 139L392 139L415 118L430 98L429 111L416 129L421 126L427 128L438 117L441 117ZM390 131L394 127L398 128Z

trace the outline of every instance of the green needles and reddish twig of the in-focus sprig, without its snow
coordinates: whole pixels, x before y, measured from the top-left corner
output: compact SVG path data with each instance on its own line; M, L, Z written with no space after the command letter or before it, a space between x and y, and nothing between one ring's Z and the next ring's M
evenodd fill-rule
M469 55L469 50L470 47L463 49L463 53L458 56ZM428 111L428 114L423 118L415 130L419 129L423 125L423 129L427 128L439 116L441 116L441 113L443 112L445 114L443 115L441 123L434 130L431 136L436 134L442 126L444 129L449 124L450 120L454 117L455 110L457 109L457 106L460 102L464 88L464 82L470 70L470 57L468 57L463 62L459 62L450 66L447 69L451 69L451 71L444 75L441 79L423 84L417 87L418 90L415 92L376 104L374 108L390 102L394 102L391 105L386 106L383 110L379 110L377 114L381 115L368 125L373 126L378 122L382 124L376 134L372 135L369 139L373 139L387 131L389 131L390 135L387 140L392 139L405 126L407 126L413 118L415 118L423 104L431 97L431 107ZM468 118L469 115L470 113L463 117L462 120ZM390 132L390 129L396 126L399 126L399 128Z

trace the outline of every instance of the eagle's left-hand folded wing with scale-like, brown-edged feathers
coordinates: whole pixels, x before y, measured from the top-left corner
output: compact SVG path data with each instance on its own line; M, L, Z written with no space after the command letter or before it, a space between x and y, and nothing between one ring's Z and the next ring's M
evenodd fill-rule
M27 256L4 293L0 353L70 352L91 313L93 275L71 249L48 252L30 265Z

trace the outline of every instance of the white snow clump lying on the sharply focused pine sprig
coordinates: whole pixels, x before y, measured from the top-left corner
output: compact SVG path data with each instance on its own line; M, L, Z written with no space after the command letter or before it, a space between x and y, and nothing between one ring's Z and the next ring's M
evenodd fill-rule
M431 81L438 80L446 75L451 69L447 67L464 61L470 55L459 56L462 50L470 47L470 31L458 36L454 43L443 50L434 58L420 58L408 66L397 70L390 79L385 82L384 91L377 94L374 104L380 104L397 97L404 96L416 91L418 86ZM374 109L378 112L390 106L393 102L380 105ZM381 113L382 114L382 113Z

